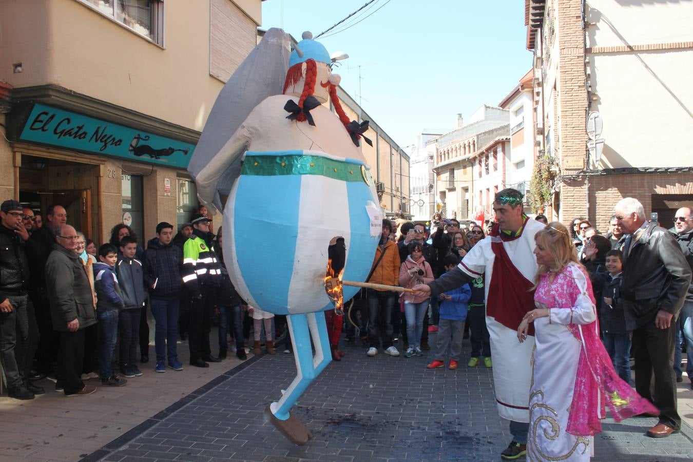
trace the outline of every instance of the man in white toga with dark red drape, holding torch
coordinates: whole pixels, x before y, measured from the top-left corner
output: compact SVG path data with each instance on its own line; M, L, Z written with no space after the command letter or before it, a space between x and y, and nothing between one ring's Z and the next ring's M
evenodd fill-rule
M534 309L534 290L530 290L537 271L532 253L534 235L545 224L525 215L523 195L512 188L496 193L493 211L498 223L491 234L477 243L453 271L414 290L437 295L486 275L486 326L491 336L495 400L498 414L510 420L513 436L501 457L518 459L526 454L534 331L528 332L527 341L520 344L517 328L525 313Z

